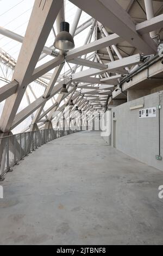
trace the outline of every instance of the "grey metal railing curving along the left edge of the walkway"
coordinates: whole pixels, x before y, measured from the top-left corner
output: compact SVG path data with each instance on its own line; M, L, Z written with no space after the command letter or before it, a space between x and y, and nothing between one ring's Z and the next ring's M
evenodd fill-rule
M0 138L0 180L18 161L43 144L79 131L82 131L81 127L73 130L48 129Z

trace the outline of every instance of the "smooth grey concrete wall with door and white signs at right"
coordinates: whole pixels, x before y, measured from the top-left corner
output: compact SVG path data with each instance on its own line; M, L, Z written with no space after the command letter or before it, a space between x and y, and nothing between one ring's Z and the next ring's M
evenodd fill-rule
M123 105L111 111L111 144L114 145L114 121L116 122L116 145L118 150L147 163L150 166L163 170L163 161L158 161L159 155L159 110L156 109L156 118L139 118L139 110L130 110L130 107L144 105L144 108L162 105L160 109L161 156L163 157L163 91L150 94ZM113 118L115 115L115 118Z

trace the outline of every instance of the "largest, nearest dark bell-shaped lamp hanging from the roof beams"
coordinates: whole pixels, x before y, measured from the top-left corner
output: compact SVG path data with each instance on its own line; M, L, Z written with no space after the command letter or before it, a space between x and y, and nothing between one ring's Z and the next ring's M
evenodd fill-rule
M74 48L74 40L69 31L70 24L68 22L62 21L60 23L60 33L56 36L54 41L55 48L62 51L69 51Z

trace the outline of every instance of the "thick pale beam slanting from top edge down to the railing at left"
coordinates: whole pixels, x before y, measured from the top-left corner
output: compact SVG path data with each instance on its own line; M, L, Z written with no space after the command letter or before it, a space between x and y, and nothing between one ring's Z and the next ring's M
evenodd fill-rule
M12 80L16 80L19 83L18 89L15 94L5 101L2 112L0 130L3 133L11 130L16 112L26 92L26 88L30 83L30 77L34 72L42 49L51 32L61 4L62 1L60 0L49 0L46 2L35 0L26 35L12 77Z

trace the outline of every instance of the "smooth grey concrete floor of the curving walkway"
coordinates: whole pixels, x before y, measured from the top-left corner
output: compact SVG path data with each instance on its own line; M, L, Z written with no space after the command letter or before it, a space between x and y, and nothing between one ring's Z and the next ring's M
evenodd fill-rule
M44 145L0 185L1 245L163 244L163 172L99 132Z

